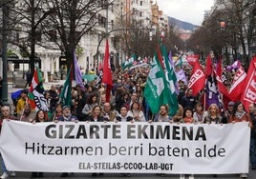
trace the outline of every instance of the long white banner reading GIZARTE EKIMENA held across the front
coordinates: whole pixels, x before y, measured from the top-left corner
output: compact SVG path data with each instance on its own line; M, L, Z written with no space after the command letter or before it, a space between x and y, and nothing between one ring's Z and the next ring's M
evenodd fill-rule
M4 121L9 170L49 172L246 173L248 123Z

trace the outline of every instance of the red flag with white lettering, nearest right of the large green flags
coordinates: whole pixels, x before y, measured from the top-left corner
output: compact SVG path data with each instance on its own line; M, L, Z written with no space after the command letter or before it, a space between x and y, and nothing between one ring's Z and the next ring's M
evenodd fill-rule
M195 96L199 93L200 90L204 88L204 84L205 84L205 74L199 62L196 61L187 87L188 89L193 90L193 95Z

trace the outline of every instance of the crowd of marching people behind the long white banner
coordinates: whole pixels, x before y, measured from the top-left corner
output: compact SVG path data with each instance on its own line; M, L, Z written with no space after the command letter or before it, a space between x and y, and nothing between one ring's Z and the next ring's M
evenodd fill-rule
M218 104L211 104L208 109L203 107L200 96L193 96L192 89L187 89L185 83L180 82L178 94L179 109L174 116L168 114L169 107L162 105L158 114L153 114L143 96L148 68L134 70L116 70L113 73L114 86L110 102L106 101L105 87L96 87L93 81L85 84L85 89L75 86L72 89L72 106L62 106L59 102L60 91L55 85L45 91L50 112L35 111L28 103L28 90L21 92L15 106L15 116L10 107L1 108L0 123L3 120L20 120L30 123L58 122L58 121L94 121L94 122L170 122L186 124L226 124L247 121L251 128L250 162L251 169L256 169L256 104L251 104L249 112L241 102L229 101L226 109L219 109ZM15 173L5 168L2 161L3 174L0 178L7 178ZM42 172L32 172L31 178L43 177ZM93 173L93 176L101 173ZM68 177L69 173L62 173L61 177ZM243 173L240 177L245 178Z

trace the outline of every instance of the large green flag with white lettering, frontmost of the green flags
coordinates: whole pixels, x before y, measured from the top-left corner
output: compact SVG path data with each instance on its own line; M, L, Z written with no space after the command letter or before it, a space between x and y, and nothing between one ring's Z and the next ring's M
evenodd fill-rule
M159 56L161 56L160 50L157 50L143 93L151 111L155 114L159 112L161 105L168 105L170 98L170 91Z

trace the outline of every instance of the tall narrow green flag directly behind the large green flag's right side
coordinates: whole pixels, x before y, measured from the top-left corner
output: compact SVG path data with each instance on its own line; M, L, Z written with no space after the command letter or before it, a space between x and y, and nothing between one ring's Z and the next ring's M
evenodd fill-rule
M167 55L167 50L163 44L160 46L163 64L164 64L164 73L166 77L167 87L169 89L169 97L168 97L168 106L169 106L169 115L174 116L179 109L178 105L178 97L176 93L176 86L177 86L177 76L174 70L174 64L172 59L169 59Z

